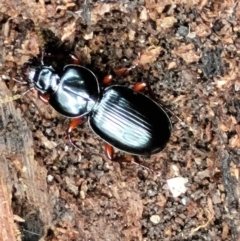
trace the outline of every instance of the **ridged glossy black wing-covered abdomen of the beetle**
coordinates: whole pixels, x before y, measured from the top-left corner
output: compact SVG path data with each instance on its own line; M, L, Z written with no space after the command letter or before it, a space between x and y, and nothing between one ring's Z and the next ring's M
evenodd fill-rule
M110 145L136 155L161 151L171 121L153 100L123 86L111 86L89 118L93 131Z

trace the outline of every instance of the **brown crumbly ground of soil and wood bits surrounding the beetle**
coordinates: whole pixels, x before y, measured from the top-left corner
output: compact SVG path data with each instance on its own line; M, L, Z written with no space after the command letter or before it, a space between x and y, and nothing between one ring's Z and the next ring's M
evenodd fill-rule
M0 27L0 240L240 240L238 0L1 0ZM87 123L79 151L69 119L20 98L15 79L43 49L59 70L74 53L100 82L141 54L114 83L145 81L174 113L166 148L139 158L158 175L107 160Z

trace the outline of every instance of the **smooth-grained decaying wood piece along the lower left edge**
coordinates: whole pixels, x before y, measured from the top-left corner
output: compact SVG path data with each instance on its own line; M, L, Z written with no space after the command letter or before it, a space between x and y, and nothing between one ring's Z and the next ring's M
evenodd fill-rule
M2 81L0 90L1 98L10 96ZM44 226L50 225L52 219L46 169L34 160L31 131L13 102L0 106L0 118L0 240L20 240L13 215L25 220L25 228L21 229L24 236L32 231L26 229L26 222L34 215L39 222L32 225L39 230L36 235L42 236Z

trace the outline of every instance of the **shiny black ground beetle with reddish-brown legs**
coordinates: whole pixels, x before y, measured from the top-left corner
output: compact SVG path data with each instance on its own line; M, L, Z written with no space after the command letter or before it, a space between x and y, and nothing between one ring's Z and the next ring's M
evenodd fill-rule
M151 156L169 141L172 122L160 105L141 93L145 83L138 82L133 89L120 85L101 88L96 75L80 64L65 65L59 73L42 63L28 68L27 78L42 100L72 118L67 133L74 146L70 134L83 117L88 117L92 131L106 143L109 159L113 159L114 147L132 155ZM111 78L107 75L103 83L109 84Z

